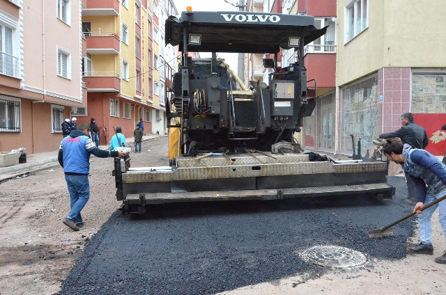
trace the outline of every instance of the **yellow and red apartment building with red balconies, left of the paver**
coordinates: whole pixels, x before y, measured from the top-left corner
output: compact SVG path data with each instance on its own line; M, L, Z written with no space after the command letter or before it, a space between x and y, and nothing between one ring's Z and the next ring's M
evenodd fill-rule
M169 3L176 13L173 2ZM140 119L144 133L163 134L167 88L165 57L160 55L166 50L160 15L164 6L155 0L84 0L83 5L88 103L77 120L95 118L101 143L109 142L117 126L125 136L132 136Z

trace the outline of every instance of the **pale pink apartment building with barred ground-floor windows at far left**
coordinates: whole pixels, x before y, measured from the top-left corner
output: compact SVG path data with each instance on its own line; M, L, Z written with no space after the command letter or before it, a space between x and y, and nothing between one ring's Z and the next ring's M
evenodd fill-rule
M0 150L57 150L86 106L79 1L0 1Z

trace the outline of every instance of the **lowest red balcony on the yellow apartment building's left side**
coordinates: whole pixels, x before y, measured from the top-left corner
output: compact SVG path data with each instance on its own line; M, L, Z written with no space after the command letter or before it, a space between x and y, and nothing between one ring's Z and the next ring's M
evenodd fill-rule
M83 72L82 76L88 92L118 93L121 91L121 79L116 72Z

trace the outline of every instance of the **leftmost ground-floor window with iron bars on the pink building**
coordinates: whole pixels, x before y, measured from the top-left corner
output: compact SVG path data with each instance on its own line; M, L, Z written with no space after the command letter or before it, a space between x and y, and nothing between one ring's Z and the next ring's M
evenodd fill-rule
M20 100L0 97L0 132L20 132Z

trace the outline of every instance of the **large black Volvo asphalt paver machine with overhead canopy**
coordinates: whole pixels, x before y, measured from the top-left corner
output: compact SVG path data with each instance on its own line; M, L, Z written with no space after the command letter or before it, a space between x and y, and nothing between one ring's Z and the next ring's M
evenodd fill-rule
M182 52L166 101L169 166L115 159L123 212L168 202L275 200L368 194L392 198L384 161L330 161L302 153L295 134L316 102L309 97L304 47L325 34L314 17L185 11L165 24ZM296 61L278 67L280 48ZM209 58L190 58L207 52ZM265 54L265 79L246 87L217 52ZM269 58L270 57L270 58ZM324 161L325 160L325 161Z

